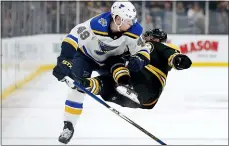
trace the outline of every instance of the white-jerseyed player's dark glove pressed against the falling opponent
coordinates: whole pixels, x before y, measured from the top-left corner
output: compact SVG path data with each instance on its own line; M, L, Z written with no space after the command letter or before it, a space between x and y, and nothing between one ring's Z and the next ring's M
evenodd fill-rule
M145 66L145 61L136 55L130 57L126 64L130 71L138 72Z

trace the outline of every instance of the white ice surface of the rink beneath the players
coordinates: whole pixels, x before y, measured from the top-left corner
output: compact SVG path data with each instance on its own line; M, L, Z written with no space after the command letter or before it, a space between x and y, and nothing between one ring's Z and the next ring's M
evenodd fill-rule
M47 72L10 95L2 104L2 144L59 145L67 90ZM227 68L171 71L152 110L110 105L169 145L228 144ZM87 97L69 143L78 144L158 143Z

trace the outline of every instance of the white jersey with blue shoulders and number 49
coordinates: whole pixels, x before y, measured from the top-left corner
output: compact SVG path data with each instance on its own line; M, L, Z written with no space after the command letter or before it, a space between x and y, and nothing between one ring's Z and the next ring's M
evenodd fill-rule
M75 49L80 49L100 65L108 57L121 55L126 51L129 51L131 55L140 53L149 59L150 50L137 45L142 34L141 25L135 23L121 37L113 39L108 33L111 20L111 13L107 12L78 24L66 36L64 42L71 44Z

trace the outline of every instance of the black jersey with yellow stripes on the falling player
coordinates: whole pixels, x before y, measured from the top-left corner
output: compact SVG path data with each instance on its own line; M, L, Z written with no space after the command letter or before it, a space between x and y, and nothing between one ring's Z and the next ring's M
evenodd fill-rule
M178 53L180 50L175 45L154 42L150 64L140 72L131 72L131 84L139 94L140 108L151 109L157 103L173 67L171 60Z

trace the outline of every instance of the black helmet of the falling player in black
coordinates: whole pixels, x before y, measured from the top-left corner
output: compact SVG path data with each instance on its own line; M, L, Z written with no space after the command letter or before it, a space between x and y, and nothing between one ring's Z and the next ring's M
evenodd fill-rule
M146 31L143 34L144 37L149 37L150 40L153 40L154 38L159 39L160 42L166 42L167 41L167 34L162 29L155 28Z

